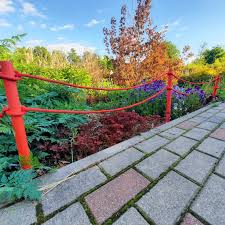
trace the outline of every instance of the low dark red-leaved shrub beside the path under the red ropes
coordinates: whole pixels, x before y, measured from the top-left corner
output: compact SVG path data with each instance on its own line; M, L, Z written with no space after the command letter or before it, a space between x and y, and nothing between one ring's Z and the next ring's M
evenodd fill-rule
M140 116L135 112L117 112L94 119L80 127L75 140L79 157L96 153L163 122L159 116Z

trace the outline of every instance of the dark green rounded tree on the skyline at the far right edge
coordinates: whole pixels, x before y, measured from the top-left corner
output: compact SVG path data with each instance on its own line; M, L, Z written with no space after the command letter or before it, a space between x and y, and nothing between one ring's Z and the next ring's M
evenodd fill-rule
M203 59L207 64L213 64L217 59L220 59L225 56L225 50L220 47L214 47L211 50L206 49L202 53Z

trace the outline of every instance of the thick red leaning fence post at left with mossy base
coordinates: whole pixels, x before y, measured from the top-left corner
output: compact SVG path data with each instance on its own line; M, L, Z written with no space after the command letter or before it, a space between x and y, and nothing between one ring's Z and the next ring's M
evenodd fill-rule
M15 132L15 141L19 153L20 164L23 169L30 169L31 155L28 146L26 130L24 126L23 115L17 90L17 80L13 65L9 61L0 61L0 79L4 82L6 98L8 102L7 115L11 116L12 126Z

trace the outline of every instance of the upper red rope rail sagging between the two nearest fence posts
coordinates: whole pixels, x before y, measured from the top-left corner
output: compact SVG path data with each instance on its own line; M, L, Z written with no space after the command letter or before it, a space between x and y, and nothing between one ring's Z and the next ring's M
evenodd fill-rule
M23 74L23 73L18 73L18 72L16 72L16 76L19 77L19 78L21 78L21 77L32 78L32 79L42 80L42 81L46 81L46 82L50 82L50 83L66 85L66 86L73 87L73 88L96 90L96 91L128 91L128 90L132 90L132 89L135 89L135 88L143 87L145 85L152 84L155 81L155 80L153 80L153 81L149 81L149 82L144 83L144 84L139 84L139 85L135 85L135 86L132 86L132 87L127 87L127 88L99 88L99 87L89 87L89 86L71 84L71 83L68 83L68 82L65 82L65 81L52 80L52 79L41 77L41 76Z

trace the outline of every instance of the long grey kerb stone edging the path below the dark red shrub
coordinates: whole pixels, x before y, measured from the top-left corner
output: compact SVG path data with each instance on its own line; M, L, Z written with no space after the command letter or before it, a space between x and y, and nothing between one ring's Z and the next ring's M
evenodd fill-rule
M135 145L143 140L145 140L144 137L135 136L126 141L123 141L123 142L113 145L109 148L106 148L98 153L90 155L84 159L78 160L74 163L64 166L64 167L58 169L54 173L49 173L45 176L42 176L42 177L40 177L39 181L41 182L41 185L49 185L53 182L65 179L71 173L78 173L78 172L80 172L92 165L95 165L95 164L97 164L97 163L99 163L99 162L101 162L101 161L127 149L127 148L132 147L133 145Z

